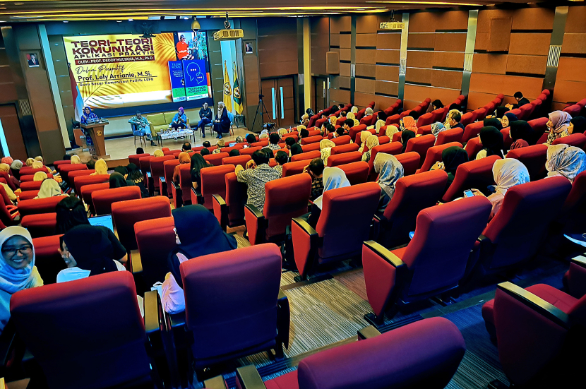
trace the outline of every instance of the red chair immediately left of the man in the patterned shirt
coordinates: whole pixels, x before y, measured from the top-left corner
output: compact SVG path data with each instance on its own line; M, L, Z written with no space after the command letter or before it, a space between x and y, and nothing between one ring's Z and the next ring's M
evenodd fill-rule
M309 161L308 161L309 163ZM283 165L285 172L285 165ZM220 222L222 229L244 224L244 205L246 204L246 184L238 182L235 173L228 173L224 177L226 196L213 196L214 215Z

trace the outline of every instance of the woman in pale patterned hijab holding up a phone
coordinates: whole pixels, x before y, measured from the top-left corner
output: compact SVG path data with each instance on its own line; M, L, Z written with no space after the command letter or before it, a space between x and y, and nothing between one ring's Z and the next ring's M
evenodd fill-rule
M510 188L530 181L527 167L514 158L495 161L494 165L492 165L492 175L494 176L494 182L496 182L496 192L487 197L492 204L489 220L492 220L498 210L501 209L505 194ZM475 196L484 196L478 189L471 189L471 191Z

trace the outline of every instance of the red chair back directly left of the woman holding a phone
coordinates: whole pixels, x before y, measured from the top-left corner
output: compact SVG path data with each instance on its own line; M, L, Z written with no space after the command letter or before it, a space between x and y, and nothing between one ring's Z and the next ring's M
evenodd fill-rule
M454 181L443 195L441 201L446 203L454 198L462 197L466 189L484 189L486 186L494 185L492 166L496 160L500 159L501 157L498 157L498 155L491 155L490 157L482 158L482 160L460 164L456 169Z

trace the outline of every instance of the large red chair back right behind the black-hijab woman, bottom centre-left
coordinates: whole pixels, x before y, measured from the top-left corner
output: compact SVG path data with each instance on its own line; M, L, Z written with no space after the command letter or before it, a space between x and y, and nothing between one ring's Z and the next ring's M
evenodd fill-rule
M275 345L281 261L277 245L256 244L181 263L196 366Z

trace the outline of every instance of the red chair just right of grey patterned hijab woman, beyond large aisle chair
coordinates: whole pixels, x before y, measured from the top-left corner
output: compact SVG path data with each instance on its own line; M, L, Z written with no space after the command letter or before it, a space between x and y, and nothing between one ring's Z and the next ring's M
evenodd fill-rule
M448 174L443 170L404 176L395 183L393 198L378 220L376 241L385 247L409 242L409 232L415 230L419 211L436 205L441 198Z

